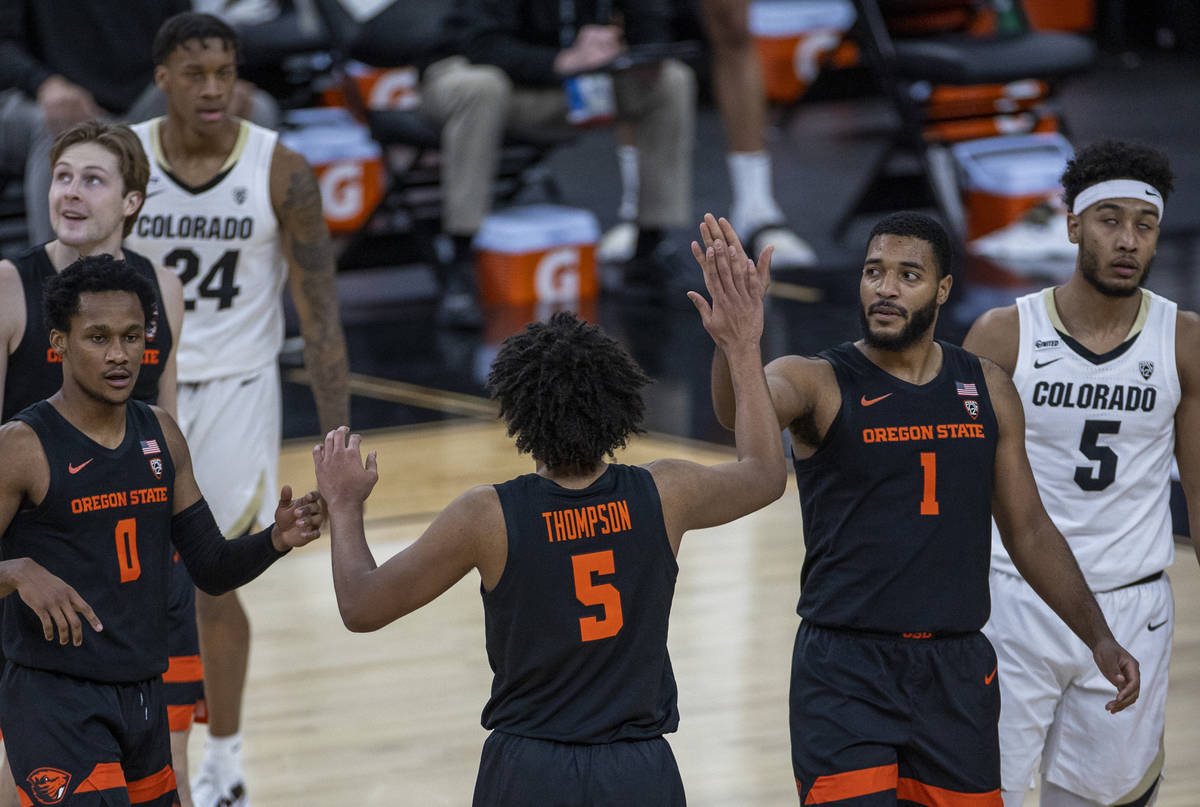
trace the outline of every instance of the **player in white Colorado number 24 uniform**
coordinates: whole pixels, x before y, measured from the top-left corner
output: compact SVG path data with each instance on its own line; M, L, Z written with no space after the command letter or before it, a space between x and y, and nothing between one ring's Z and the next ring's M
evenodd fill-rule
M163 23L152 55L167 115L134 126L151 171L127 243L184 283L180 425L218 526L236 536L269 524L275 507L286 281L320 428L349 419L334 253L308 163L275 132L227 113L238 78L233 29L209 14L178 14ZM197 592L197 612L209 742L192 794L197 807L245 805L250 626L233 593Z

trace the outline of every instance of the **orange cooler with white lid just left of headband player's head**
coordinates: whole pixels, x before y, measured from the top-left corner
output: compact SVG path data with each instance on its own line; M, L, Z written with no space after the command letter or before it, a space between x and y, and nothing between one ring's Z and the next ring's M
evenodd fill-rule
M1074 154L1057 132L989 137L952 147L962 172L967 239L1000 229L1061 190Z

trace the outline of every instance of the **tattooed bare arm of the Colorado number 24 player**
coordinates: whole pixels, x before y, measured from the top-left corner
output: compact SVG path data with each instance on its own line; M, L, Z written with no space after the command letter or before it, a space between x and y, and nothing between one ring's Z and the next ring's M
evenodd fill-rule
M349 425L349 367L337 309L334 246L320 214L317 177L292 149L275 147L271 205L288 259L288 283L300 315L304 363L312 378L323 434Z

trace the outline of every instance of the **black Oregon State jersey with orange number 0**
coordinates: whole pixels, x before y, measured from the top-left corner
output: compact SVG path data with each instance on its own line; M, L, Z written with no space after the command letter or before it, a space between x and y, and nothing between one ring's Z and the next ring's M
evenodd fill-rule
M37 434L50 468L46 497L17 513L5 557L32 557L74 587L104 629L83 644L47 641L17 594L2 611L10 662L92 681L142 681L167 669L167 581L175 467L154 411L130 401L125 440L104 448L48 401L17 413Z

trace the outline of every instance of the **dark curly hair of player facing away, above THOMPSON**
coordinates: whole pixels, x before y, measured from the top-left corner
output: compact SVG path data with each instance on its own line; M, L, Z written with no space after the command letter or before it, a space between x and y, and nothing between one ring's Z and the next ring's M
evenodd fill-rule
M625 348L571 311L504 340L487 376L517 450L558 473L590 471L644 431L648 383Z

